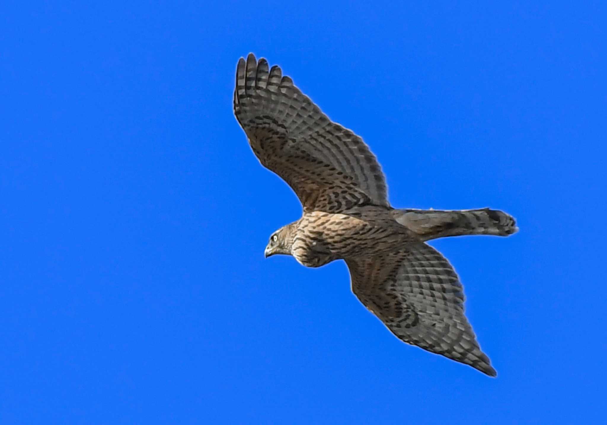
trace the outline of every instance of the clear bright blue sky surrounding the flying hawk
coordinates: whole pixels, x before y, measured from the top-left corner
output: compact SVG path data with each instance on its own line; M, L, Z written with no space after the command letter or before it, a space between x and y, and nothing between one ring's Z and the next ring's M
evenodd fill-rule
M419 3L3 3L2 424L605 420L605 3ZM497 379L263 258L300 205L232 115L249 52L394 206L517 218L432 243Z

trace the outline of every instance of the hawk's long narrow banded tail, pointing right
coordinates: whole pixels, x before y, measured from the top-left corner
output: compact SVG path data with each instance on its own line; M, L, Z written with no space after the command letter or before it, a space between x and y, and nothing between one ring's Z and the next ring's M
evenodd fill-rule
M509 236L518 231L514 217L498 209L395 209L392 214L398 223L421 236L422 240L472 234Z

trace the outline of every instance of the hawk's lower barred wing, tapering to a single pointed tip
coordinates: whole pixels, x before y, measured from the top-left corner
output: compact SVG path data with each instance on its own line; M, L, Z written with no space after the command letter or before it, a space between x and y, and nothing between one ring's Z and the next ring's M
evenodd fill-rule
M441 253L416 242L346 262L354 294L399 339L497 375L464 316L458 276Z

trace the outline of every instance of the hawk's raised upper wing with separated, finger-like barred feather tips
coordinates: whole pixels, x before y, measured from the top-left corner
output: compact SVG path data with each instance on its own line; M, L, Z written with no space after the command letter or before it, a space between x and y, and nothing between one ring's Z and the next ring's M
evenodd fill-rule
M304 211L389 206L384 174L362 139L252 53L238 61L234 114L257 158L293 188Z

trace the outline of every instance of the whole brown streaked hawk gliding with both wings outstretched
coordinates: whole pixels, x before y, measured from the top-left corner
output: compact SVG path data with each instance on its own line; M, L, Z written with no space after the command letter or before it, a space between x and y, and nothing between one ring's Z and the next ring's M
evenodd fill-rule
M270 236L265 256L287 254L307 267L345 260L351 288L407 344L495 376L464 316L453 267L426 241L508 236L515 220L495 209L395 209L367 144L331 121L265 59L236 68L234 114L263 166L295 191L302 217Z

